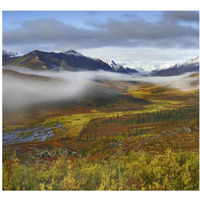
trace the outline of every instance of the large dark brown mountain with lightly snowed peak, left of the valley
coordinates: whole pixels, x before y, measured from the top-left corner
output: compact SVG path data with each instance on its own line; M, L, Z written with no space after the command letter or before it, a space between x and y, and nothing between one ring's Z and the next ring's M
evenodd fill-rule
M75 50L60 53L34 50L26 55L15 57L12 60L4 62L4 65L24 67L33 70L114 71L102 60L86 57Z

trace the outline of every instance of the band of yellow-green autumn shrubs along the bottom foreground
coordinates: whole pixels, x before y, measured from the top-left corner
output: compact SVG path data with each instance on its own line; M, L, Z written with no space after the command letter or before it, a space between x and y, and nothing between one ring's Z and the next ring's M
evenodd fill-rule
M12 165L12 167L11 167ZM4 190L198 190L199 157L191 152L164 155L129 152L108 160L66 156L50 166L3 165Z

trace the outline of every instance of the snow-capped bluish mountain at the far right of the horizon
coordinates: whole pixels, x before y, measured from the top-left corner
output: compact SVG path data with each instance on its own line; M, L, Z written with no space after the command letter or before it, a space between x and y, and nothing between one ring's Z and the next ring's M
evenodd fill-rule
M154 70L151 75L153 76L176 76L185 72L199 71L199 56L187 60L183 63L169 63L165 64L157 70Z

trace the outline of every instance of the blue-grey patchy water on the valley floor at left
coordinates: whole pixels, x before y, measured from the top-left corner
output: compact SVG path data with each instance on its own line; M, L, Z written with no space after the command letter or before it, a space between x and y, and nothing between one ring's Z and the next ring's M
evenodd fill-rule
M53 127L44 128L44 126L38 126L38 127L31 127L26 129L16 129L10 131L10 133L7 133L6 131L3 132L3 144L15 144L15 143L21 143L21 142L31 142L31 141L45 141L49 139L50 137L55 136L53 131L51 130L54 127L58 127L62 129L62 124L57 124ZM29 131L33 131L33 133L26 134L26 135L20 135Z

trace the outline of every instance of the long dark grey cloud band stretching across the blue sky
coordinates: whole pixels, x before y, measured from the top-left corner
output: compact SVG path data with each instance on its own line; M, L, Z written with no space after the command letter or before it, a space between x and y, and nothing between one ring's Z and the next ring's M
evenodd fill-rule
M98 47L198 48L198 27L180 22L198 22L198 12L164 12L157 21L130 18L91 23L77 28L54 19L24 21L20 28L3 32L3 45L34 46L54 50ZM198 25L197 25L198 26Z

